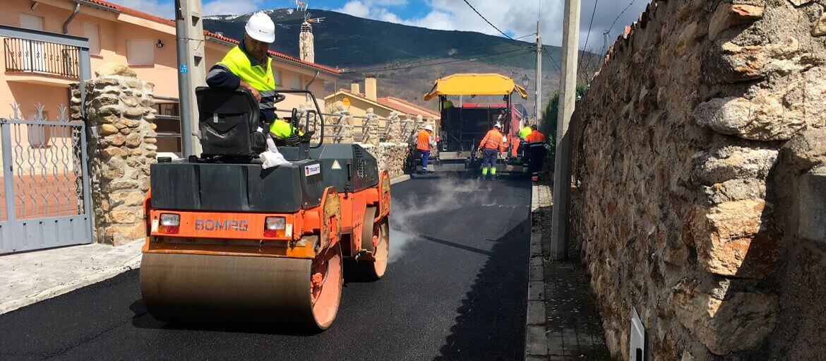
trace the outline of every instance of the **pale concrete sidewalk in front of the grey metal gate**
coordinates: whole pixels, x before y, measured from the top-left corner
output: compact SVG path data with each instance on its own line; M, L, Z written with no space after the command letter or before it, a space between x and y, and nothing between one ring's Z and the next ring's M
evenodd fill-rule
M75 245L0 256L0 314L140 267L143 240Z

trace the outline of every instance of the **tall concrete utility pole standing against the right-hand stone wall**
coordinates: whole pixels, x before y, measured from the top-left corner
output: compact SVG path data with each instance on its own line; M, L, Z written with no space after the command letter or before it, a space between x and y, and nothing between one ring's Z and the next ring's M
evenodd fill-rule
M568 214L571 207L571 134L568 125L577 100L580 0L565 0L563 25L563 79L557 118L557 154L553 169L553 227L551 258L567 257Z

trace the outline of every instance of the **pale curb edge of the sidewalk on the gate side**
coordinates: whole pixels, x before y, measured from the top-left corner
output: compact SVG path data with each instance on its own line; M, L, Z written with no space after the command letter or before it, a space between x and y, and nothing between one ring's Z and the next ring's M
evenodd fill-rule
M138 254L132 259L126 261L125 264L122 264L120 266L103 268L102 270L96 273L89 274L82 278L77 278L67 283L59 284L55 287L50 287L43 291L26 295L24 297L18 298L17 300L2 303L0 304L0 315L11 311L15 311L25 306L35 304L40 301L47 300L52 297L58 297L64 293L72 292L78 288L106 281L107 279L113 278L118 274L124 273L126 271L131 271L132 269L140 268L140 256L141 255Z

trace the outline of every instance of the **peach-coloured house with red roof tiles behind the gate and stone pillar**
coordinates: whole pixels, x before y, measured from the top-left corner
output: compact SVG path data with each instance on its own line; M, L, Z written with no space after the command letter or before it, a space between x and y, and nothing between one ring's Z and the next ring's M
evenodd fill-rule
M92 71L110 62L129 64L140 78L154 83L161 115L156 121L159 151L180 151L179 122L163 116L175 116L178 112L177 103L169 100L178 97L173 21L99 0L2 0L2 5L0 25L88 38ZM205 35L208 69L237 41L207 31ZM36 116L36 105L41 103L45 106L44 115L54 119L59 105L69 104L69 84L78 82L78 50L15 38L2 38L2 43L0 116L12 112L11 104L20 104L21 115L31 119ZM304 88L317 72L318 78L310 90L320 102L326 95L325 82L339 76L338 70L324 65L271 54L279 88ZM279 107L295 107L301 102L304 97L288 95Z

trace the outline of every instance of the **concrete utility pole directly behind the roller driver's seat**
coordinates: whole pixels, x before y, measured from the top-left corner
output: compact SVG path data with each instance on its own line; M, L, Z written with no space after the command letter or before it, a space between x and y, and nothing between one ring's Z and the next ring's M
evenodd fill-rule
M175 0L175 45L178 47L178 102L181 110L181 154L201 154L192 135L198 129L195 88L207 85L201 0Z

